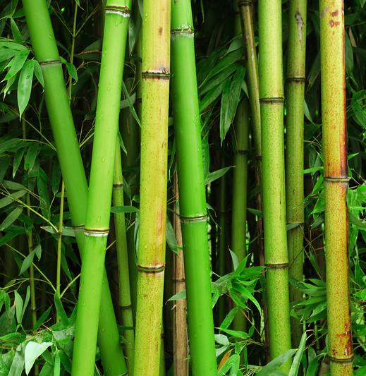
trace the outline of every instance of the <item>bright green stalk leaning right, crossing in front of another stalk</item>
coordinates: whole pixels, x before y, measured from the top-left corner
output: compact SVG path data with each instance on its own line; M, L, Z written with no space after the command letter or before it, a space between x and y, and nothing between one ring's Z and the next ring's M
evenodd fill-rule
M93 375L130 1L106 1L84 257L73 346L73 376ZM113 51L114 53L106 53Z

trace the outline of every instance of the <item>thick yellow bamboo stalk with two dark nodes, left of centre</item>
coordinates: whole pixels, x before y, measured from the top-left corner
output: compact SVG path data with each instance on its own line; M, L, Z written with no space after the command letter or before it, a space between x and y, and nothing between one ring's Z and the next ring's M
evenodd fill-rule
M164 292L170 1L145 0L135 375L159 374Z

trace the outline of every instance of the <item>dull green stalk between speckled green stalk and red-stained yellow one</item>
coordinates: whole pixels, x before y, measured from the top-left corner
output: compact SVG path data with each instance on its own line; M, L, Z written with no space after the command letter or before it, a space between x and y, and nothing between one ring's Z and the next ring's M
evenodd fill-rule
M288 4L288 65L286 79L286 215L296 225L287 233L289 276L303 280L304 231L304 97L306 51L306 0ZM300 301L302 293L290 286L290 301ZM291 318L292 343L298 347L303 326Z

